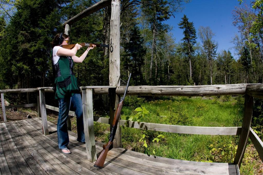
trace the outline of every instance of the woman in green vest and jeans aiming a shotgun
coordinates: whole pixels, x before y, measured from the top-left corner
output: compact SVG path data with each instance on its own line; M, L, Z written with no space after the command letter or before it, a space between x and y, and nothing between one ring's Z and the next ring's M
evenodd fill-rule
M73 72L73 61L81 63L89 50L96 47L96 45L88 47L80 57L77 57L75 54L82 46L76 44L73 49L63 48L62 45L67 45L68 42L68 35L63 33L57 34L52 42L52 68L55 77L53 89L55 91L55 99L58 99L59 102L57 124L58 147L65 154L71 153L67 148L69 143L67 118L71 103L77 116L77 141L85 143L82 99L79 94L80 88Z

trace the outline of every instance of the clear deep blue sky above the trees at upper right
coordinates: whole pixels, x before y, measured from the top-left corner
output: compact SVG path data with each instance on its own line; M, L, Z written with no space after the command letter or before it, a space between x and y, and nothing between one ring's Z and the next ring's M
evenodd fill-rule
M232 11L235 6L239 6L237 0L192 0L184 5L182 13L175 14L175 18L171 17L165 23L173 26L171 31L178 43L183 37L183 29L178 28L178 23L184 14L190 22L194 23L196 35L198 37L198 29L200 26L209 26L215 33L214 40L218 42L218 52L221 50L230 50L232 56L235 56L234 44L230 43L231 39L238 34L238 30L233 26ZM197 39L200 42L200 39Z

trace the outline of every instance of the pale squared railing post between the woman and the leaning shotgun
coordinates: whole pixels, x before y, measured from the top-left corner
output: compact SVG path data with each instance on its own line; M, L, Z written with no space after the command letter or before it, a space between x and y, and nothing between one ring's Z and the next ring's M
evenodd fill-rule
M92 89L82 89L82 104L87 158L90 162L94 162L97 160L97 155L93 126Z

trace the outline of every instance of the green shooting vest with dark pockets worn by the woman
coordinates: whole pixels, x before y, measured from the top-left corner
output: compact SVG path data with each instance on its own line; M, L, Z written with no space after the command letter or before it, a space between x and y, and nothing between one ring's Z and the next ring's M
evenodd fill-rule
M53 55L53 49L51 55ZM80 92L77 78L73 72L73 65L72 57L60 56L55 65L52 58L55 99L72 97L75 93Z

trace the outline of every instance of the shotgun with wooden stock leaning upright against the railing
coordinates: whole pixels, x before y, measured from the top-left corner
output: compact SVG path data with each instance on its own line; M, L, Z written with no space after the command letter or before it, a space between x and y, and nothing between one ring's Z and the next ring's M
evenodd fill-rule
M120 99L120 102L119 102L119 104L118 104L116 113L115 113L114 118L113 118L112 130L110 131L109 142L108 142L107 144L103 145L103 150L102 150L102 152L100 153L99 158L98 158L97 161L95 162L94 167L103 168L105 159L106 159L106 157L107 157L107 154L108 154L108 151L109 151L109 149L110 149L110 146L112 145L112 142L113 142L113 140L114 140L115 133L116 133L116 130L117 130L117 127L118 127L118 121L119 121L119 119L120 119L120 112L121 112L121 110L122 110L122 106L123 106L123 101L124 101L125 95L126 95L126 93L127 93L127 91L128 91L130 78L131 78L131 73L130 73L130 76L129 76L129 79L128 79L128 82L127 82L126 89L125 89L125 91L124 91L124 95L123 95L123 97Z

